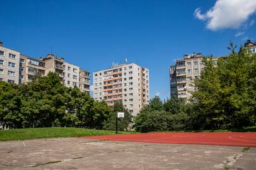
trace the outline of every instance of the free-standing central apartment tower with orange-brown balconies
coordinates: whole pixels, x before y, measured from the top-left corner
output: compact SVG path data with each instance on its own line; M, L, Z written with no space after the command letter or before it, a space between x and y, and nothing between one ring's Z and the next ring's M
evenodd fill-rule
M113 106L121 101L132 115L149 103L149 69L140 65L121 64L94 72L93 97Z

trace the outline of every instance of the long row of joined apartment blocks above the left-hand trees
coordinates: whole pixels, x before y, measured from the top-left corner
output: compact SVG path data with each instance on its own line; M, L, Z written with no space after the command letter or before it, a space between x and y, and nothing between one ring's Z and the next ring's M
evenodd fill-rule
M0 81L25 84L36 75L46 76L49 72L58 72L59 79L67 87L77 86L80 91L90 92L90 72L52 54L36 59L4 48L0 43Z

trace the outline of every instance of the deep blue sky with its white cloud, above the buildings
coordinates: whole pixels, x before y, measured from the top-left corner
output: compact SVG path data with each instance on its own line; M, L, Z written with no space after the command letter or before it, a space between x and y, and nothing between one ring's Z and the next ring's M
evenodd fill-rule
M150 97L164 99L175 59L193 52L225 55L230 40L256 41L255 3L247 1L244 7L228 0L0 0L0 41L31 57L52 47L53 54L90 72L128 57L149 68Z

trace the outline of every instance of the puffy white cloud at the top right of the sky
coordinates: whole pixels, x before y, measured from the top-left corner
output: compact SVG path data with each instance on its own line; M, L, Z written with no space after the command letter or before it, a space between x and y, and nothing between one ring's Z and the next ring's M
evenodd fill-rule
M206 13L202 14L201 9L197 8L194 15L199 20L207 21L209 30L221 30L238 28L255 12L255 0L217 0L216 4ZM254 20L251 22L253 24Z

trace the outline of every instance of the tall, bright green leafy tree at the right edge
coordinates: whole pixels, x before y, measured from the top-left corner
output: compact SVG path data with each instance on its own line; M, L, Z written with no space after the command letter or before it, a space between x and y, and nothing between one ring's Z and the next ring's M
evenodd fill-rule
M219 59L205 57L205 69L195 81L197 91L192 103L200 108L205 128L227 128L250 125L255 121L255 55L241 48Z

